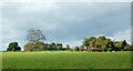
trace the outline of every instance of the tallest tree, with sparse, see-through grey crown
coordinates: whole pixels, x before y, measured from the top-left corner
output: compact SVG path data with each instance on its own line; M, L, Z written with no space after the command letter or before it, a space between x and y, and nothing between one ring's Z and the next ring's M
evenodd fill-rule
M27 34L27 40L32 44L33 51L35 50L37 42L43 42L45 39L45 36L42 33L41 30L34 30L34 29L29 29L28 34Z

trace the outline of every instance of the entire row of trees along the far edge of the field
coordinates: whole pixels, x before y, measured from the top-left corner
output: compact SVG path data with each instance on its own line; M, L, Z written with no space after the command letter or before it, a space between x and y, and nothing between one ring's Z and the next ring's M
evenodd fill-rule
M28 43L24 45L24 51L131 51L132 47L123 41L112 41L105 37L84 38L80 47L70 48L69 44L63 47L62 43L44 43L47 40L42 31L30 29L27 34ZM9 43L7 51L21 51L18 42Z

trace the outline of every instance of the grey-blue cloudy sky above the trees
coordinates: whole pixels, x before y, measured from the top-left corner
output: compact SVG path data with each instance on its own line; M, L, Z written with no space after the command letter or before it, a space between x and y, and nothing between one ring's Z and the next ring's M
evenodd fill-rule
M13 41L19 42L23 50L29 29L41 30L45 43L61 42L64 47L81 45L84 38L92 36L105 36L117 41L125 39L131 43L131 3L7 2L2 3L1 26L3 51Z

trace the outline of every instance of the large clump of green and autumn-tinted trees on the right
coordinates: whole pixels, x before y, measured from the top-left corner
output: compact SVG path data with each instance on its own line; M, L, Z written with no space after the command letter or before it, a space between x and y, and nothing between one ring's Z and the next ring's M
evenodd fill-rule
M94 37L90 37L89 39L84 39L83 41L83 47L86 47L86 49L89 51L91 51L91 49L93 50L102 50L102 51L108 51L106 49L111 48L111 50L115 50L115 51L121 51L124 50L124 47L127 45L126 41L111 41L111 39L106 39L105 37L99 37L98 39Z

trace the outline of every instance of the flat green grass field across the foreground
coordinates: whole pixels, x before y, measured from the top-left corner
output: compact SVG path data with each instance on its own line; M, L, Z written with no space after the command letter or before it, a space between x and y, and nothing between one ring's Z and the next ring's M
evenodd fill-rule
M3 69L130 69L131 52L2 52Z

